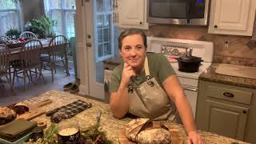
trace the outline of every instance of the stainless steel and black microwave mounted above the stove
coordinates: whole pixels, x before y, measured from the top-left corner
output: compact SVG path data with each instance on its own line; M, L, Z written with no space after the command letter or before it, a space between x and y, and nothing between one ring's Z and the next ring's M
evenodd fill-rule
M208 23L210 0L147 0L149 23L202 25Z

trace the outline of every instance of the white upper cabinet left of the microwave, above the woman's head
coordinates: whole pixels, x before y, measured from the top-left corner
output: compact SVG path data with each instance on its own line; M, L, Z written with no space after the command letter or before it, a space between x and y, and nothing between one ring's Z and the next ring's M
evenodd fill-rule
M122 28L148 29L146 0L113 0L114 25Z

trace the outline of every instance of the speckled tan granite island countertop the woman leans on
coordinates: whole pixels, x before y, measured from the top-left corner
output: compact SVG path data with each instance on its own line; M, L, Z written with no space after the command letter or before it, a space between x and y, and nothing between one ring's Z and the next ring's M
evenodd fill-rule
M89 126L94 125L94 123L96 122L98 110L101 110L101 128L102 130L106 131L107 137L110 138L110 140L114 141L114 143L118 143L118 134L120 130L125 128L126 124L131 120L131 118L114 118L111 114L109 104L98 102L91 98L86 98L59 90L50 90L44 94L38 95L38 97L26 100L25 103L40 102L45 99L50 99L53 101L52 103L46 106L42 106L42 109L46 111L53 110L54 108L57 108L59 106L64 106L78 99L83 100L85 102L91 102L92 107L90 109L82 111L81 113L75 115L73 118L77 120L78 126L81 130L86 130L86 128L88 128ZM46 117L46 114L43 114L38 118L34 118L33 121L44 121L46 122L47 126L50 126L50 118ZM170 128L179 130L182 134L182 139L184 139L184 142L186 142L186 132L181 125L177 125L168 121L166 121L166 123L168 124L168 126L170 126ZM246 143L204 131L200 131L200 134L202 134L202 137L204 138L204 143Z

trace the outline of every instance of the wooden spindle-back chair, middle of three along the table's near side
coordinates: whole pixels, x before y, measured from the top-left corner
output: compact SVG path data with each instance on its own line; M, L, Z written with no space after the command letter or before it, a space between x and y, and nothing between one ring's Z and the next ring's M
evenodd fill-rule
M39 77L42 77L43 82L45 82L42 75L42 66L39 58L39 54L41 54L42 43L37 39L31 39L24 43L21 49L20 61L13 65L14 67L14 75L13 75L13 83L14 77L18 77L19 73L23 74L24 79L24 90L26 90L26 76L29 78L31 82L33 82L31 69L38 70ZM28 71L30 74L28 74Z

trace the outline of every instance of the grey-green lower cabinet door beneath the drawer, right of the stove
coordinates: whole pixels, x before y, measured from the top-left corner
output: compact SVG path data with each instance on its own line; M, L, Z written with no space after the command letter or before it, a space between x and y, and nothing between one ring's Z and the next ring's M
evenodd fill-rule
M222 102L206 100L206 130L226 137L243 140L248 109Z

